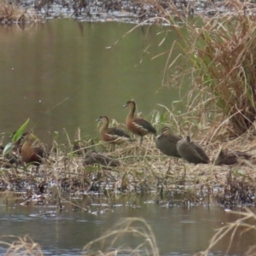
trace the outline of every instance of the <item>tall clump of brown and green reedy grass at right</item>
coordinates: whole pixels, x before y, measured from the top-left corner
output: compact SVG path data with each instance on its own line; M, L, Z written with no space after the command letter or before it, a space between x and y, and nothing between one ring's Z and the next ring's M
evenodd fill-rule
M188 116L203 125L216 120L218 128L229 123L240 136L253 127L256 114L255 5L224 1L224 13L215 6L214 16L191 19L191 6L177 9L174 3L166 4L163 8L162 3L154 3L159 17L151 20L167 22L181 38L166 53L168 84L183 87L184 79L189 79Z

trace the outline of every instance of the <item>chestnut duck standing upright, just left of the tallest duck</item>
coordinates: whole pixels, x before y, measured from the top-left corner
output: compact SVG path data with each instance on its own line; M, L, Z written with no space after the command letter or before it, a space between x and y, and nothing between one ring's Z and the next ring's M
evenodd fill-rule
M122 129L116 127L108 127L108 117L101 116L99 119L96 119L96 122L102 122L102 126L99 129L99 132L102 136L102 140L107 143L115 144L124 143L131 141L131 137Z

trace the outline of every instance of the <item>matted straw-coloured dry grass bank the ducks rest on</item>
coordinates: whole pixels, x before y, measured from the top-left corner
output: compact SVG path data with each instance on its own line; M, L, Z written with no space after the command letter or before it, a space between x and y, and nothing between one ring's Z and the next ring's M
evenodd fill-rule
M183 133L183 136L185 135L186 133ZM232 141L221 136L219 140L211 143L207 137L192 137L192 140L200 143L212 160L220 148L256 154L256 139L250 132ZM81 139L80 135L73 141L67 137L65 145L54 142L50 148L49 159L40 166L39 172L31 165L6 168L4 166L7 160L0 159L0 184L7 191L26 191L24 204L54 203L60 208L61 201L66 201L70 195L93 192L107 196L112 193L155 193L156 200L159 197L163 203L168 201L166 195L177 191L183 193L184 203L188 198L190 201L194 198L197 203L198 192L203 192L206 196L218 194L218 200L223 205L227 202L222 201L222 196L230 193L234 197L229 203L236 205L239 201L249 202L237 195L237 191L240 189L247 193L255 185L254 157L250 160L239 160L234 166L213 166L212 163L195 166L161 154L155 148L153 136L145 137L142 146L138 141L126 143L117 146L113 152L109 151L108 143L86 141ZM250 143L247 143L248 141ZM120 166L84 166L84 150L92 148L108 150L103 154L119 160Z

